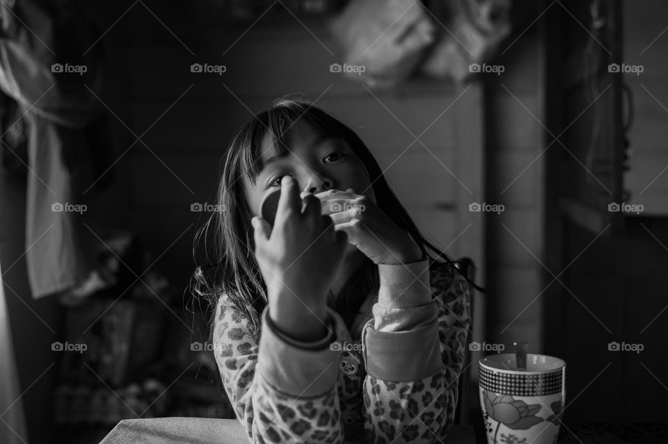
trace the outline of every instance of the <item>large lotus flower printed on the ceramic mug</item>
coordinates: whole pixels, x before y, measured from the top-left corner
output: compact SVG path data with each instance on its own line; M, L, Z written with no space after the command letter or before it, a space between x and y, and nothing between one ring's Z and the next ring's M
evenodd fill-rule
M487 390L482 390L482 393L486 413L509 429L526 430L543 421L543 418L535 415L541 409L541 404L527 405L511 395L495 395Z

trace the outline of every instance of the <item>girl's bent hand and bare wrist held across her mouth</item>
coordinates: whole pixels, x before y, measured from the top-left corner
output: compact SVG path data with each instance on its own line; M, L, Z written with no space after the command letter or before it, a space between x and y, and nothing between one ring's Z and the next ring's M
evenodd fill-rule
M323 214L329 214L334 229L346 232L348 242L374 264L408 264L422 259L422 251L387 214L366 196L329 190L316 195Z

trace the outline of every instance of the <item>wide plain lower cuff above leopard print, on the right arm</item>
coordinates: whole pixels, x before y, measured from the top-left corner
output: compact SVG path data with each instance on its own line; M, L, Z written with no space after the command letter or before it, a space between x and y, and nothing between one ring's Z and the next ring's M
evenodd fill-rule
M411 331L376 331L366 324L362 344L367 373L383 381L417 381L443 370L438 322Z

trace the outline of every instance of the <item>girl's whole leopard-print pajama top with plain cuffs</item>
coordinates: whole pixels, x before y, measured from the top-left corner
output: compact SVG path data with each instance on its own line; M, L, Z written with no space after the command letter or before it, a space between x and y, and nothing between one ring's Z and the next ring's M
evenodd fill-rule
M378 292L353 333L328 308L330 334L317 342L278 331L268 308L255 338L246 315L221 296L216 363L251 443L445 440L470 331L470 287L450 264L429 258L378 268Z

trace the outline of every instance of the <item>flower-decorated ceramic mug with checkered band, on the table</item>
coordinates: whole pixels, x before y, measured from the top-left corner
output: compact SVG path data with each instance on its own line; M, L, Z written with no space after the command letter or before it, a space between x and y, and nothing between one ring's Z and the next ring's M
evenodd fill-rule
M479 393L488 444L557 443L566 399L566 362L527 354L518 370L515 354L479 360Z

